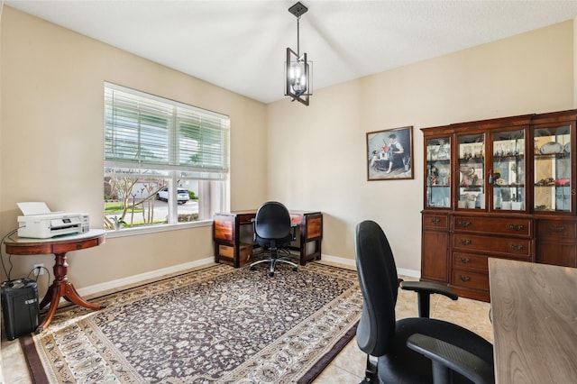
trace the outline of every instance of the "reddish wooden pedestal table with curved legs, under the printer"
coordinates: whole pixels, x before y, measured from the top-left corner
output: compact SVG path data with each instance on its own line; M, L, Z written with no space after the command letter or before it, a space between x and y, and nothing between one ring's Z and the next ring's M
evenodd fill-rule
M104 307L90 304L84 298L80 297L78 291L66 276L69 270L69 264L66 262L66 252L96 247L104 242L105 231L100 229L50 239L30 239L18 237L17 235L5 239L6 253L14 255L54 253L54 281L40 303L41 308L47 306L49 303L50 307L41 324L36 328L37 334L40 334L50 325L52 317L54 317L56 309L58 308L60 297L64 297L66 300L78 304L78 306L86 306L89 309L101 309Z

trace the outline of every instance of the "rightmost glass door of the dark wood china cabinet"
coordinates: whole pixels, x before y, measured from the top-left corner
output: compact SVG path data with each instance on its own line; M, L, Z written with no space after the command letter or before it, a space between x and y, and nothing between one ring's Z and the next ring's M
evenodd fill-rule
M571 125L534 131L534 210L571 212Z

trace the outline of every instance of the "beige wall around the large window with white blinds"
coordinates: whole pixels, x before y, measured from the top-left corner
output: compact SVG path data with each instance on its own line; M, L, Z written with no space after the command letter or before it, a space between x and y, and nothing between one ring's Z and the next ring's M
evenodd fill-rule
M87 212L91 226L102 228L104 81L229 115L232 208L264 200L266 105L8 6L1 28L3 236L17 226L22 201ZM211 228L109 238L95 249L70 252L69 277L82 288L211 257ZM47 256L12 261L13 278L28 275L34 263L52 264Z

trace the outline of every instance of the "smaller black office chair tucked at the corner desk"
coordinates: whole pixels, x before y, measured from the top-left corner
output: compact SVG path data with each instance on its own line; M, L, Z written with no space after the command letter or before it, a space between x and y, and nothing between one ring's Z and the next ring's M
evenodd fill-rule
M262 262L270 262L269 276L274 276L274 268L277 262L292 265L292 270L297 270L298 265L289 259L290 252L286 247L297 238L296 224L290 221L289 210L279 202L269 201L264 203L256 212L252 220L254 229L254 241L269 252L269 257L251 264L251 270ZM279 257L279 251L286 256Z

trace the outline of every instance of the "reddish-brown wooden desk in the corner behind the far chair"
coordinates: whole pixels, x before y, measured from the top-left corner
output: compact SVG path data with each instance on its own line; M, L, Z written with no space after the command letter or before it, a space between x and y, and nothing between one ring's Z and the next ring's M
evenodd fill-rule
M298 224L298 244L300 265L307 261L321 259L323 240L323 214L309 211L289 211L292 223ZM256 209L216 214L213 226L215 241L215 262L225 262L240 267L246 261L241 258L243 245L253 245L252 219ZM250 225L250 226L249 226ZM312 251L310 249L312 246Z

